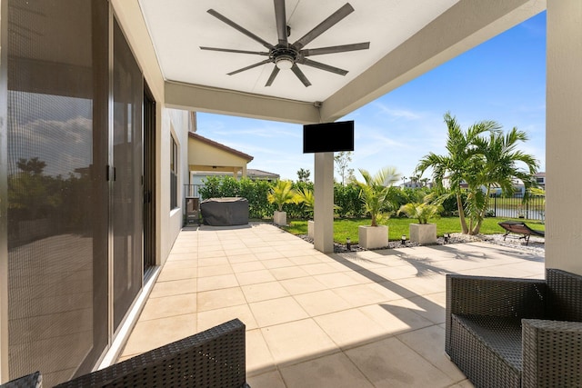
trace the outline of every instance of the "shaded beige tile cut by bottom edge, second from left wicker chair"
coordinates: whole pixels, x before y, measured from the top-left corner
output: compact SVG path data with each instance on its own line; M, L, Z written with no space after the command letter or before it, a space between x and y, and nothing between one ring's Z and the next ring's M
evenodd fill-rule
M335 353L315 360L281 368L287 388L334 387L372 388L354 363L344 353Z

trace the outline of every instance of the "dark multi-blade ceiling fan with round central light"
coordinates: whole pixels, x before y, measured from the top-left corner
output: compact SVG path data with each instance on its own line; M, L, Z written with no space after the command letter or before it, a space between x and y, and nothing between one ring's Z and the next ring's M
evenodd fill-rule
M327 17L326 20L321 22L319 25L316 25L311 31L297 39L296 42L294 43L289 43L289 41L287 40L287 37L291 35L291 27L289 27L286 24L285 0L274 0L274 3L275 3L276 34L278 36L278 43L276 45L271 45L270 43L266 42L266 40L251 33L241 25L237 25L235 22L227 18L225 15L219 14L214 9L209 9L207 11L208 14L215 16L217 19L226 23L226 25L230 25L237 31L243 33L244 35L250 37L251 39L256 40L256 42L260 43L261 45L264 45L268 49L267 52L236 50L230 48L205 47L205 46L200 46L200 49L222 51L226 53L263 55L267 57L267 59L261 62L257 62L256 64L248 65L241 69L235 70L233 72L228 73L228 75L236 75L237 73L244 72L256 66L273 63L275 64L275 66L273 67L273 71L271 72L271 75L266 81L265 86L273 85L273 81L275 81L276 75L278 75L279 71L283 69L291 69L291 71L297 76L297 78L301 80L303 85L309 86L311 85L311 83L307 79L306 75L304 75L304 73L301 71L299 66L297 66L297 64L316 67L317 69L335 73L336 75L346 75L347 70L313 61L311 59L308 59L307 56L343 53L346 51L366 50L367 48L370 47L370 43L365 42L350 45L333 45L328 47L319 47L311 49L304 48L317 36L322 35L330 27L336 25L337 22L339 22L347 15L354 12L354 7L352 7L352 5L349 5L349 3L343 5L334 14Z

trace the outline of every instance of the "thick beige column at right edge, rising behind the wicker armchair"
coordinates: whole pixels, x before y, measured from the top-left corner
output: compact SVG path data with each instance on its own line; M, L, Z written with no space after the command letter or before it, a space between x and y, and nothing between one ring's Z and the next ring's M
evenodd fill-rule
M582 2L547 2L546 267L582 274Z

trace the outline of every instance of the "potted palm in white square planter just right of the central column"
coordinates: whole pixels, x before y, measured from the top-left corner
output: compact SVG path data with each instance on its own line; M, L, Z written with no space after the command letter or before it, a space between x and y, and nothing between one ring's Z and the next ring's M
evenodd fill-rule
M370 214L372 226L377 226L377 219L386 210L392 210L396 206L396 184L400 174L395 167L386 166L375 175L365 169L359 169L365 182L357 182L360 187L360 198L364 202L366 212Z

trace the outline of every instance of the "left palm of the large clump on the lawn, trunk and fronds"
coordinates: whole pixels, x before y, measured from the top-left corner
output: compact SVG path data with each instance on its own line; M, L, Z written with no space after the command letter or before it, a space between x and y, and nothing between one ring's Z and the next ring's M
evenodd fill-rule
M462 186L467 182L467 178L477 174L480 168L481 158L478 154L476 144L479 136L487 131L497 131L500 126L493 121L482 121L471 125L467 132L461 129L457 119L447 112L445 114L445 124L447 124L447 154L438 155L429 153L424 156L416 166L420 174L424 174L428 168L432 168L433 181L437 190L444 188L443 181L448 179L450 184L450 194L457 198L457 210L461 230L463 234L469 233L465 216L465 204L462 199Z

